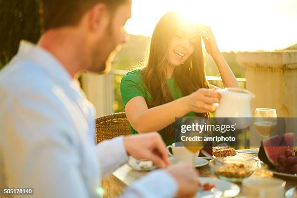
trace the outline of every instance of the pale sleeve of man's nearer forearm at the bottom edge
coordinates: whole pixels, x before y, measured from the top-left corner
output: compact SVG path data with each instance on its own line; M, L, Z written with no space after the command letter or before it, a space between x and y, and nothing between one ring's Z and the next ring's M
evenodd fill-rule
M155 170L134 182L120 198L173 198L177 190L177 182L169 173Z

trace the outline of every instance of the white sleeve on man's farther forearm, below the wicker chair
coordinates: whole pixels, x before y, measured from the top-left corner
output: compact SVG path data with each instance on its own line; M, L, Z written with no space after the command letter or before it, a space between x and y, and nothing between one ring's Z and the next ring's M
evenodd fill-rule
M96 154L101 166L102 178L107 177L120 165L127 163L128 155L124 147L123 136L100 142Z

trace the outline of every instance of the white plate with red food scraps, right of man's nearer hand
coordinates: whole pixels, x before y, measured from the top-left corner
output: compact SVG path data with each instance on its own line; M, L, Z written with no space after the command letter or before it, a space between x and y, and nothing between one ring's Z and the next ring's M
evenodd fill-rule
M201 184L214 183L215 187L209 191L199 191L195 198L232 198L239 194L240 187L235 183L215 178L199 177Z

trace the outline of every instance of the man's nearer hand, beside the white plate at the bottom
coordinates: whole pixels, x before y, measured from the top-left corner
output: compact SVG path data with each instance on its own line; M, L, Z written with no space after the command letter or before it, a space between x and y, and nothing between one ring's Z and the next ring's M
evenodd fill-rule
M165 169L177 182L177 196L192 198L197 194L201 186L198 173L191 165L177 164L170 165Z

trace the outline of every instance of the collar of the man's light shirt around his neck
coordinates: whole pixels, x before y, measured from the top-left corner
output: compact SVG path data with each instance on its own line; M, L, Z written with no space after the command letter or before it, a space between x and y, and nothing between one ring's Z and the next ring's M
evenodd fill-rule
M23 59L33 61L48 73L52 79L78 86L77 80L72 80L70 74L59 60L46 49L42 49L28 41L22 40L18 48L18 55Z

